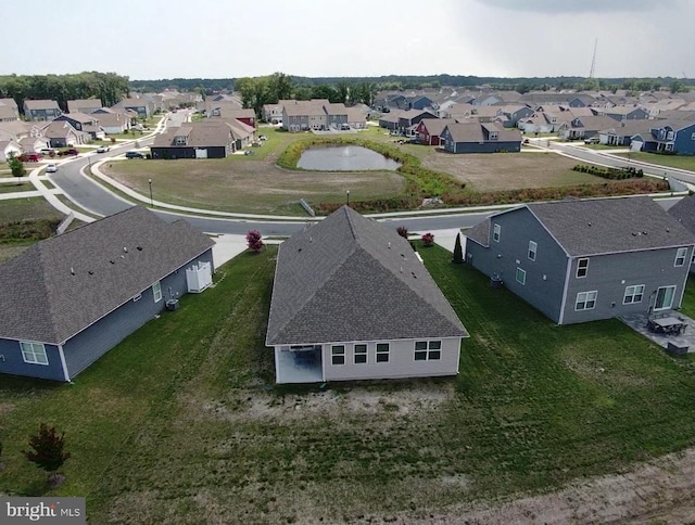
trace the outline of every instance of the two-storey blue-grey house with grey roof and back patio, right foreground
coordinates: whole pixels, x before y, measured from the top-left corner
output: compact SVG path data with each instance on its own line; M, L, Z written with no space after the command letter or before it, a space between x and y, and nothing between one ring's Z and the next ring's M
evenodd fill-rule
M466 238L468 264L557 324L680 307L695 246L648 196L525 204Z

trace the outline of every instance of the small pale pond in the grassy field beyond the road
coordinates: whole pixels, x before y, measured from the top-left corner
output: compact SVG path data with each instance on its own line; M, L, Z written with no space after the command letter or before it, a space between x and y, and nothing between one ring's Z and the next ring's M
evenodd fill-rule
M359 145L309 148L302 153L296 166L318 171L396 170L400 163Z

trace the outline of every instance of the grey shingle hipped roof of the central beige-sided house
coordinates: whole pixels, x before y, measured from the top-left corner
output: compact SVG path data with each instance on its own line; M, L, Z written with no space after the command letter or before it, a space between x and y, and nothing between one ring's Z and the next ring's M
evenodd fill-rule
M280 246L268 346L467 335L408 242L348 206Z

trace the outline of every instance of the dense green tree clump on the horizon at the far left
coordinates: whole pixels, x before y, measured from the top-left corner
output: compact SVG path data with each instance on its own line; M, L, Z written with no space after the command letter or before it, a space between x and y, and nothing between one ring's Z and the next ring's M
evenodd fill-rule
M25 100L54 100L67 111L68 100L92 98L112 106L127 97L129 89L128 77L115 73L0 76L0 99L14 99L20 107Z

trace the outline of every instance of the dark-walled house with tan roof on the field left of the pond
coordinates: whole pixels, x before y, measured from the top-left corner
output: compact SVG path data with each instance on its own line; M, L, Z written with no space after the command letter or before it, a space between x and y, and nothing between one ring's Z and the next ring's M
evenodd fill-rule
M205 119L167 128L150 146L152 158L225 158L236 151L230 126L222 119Z

